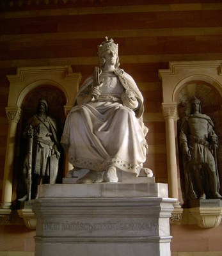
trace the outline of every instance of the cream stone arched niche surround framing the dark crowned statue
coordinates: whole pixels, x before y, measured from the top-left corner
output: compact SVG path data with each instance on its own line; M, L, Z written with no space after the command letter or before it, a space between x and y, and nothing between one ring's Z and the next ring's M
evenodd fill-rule
M216 107L212 106L212 109L221 108L221 65L222 61L175 61L170 62L169 69L159 70L163 85L162 106L166 124L169 194L178 199L173 211L178 218L182 214L180 207L183 199L180 188L177 123L180 122L180 117L189 111L187 103L194 95L201 97L205 106L209 106L210 100L212 102L215 98L218 103ZM215 116L221 115L221 110L218 111Z

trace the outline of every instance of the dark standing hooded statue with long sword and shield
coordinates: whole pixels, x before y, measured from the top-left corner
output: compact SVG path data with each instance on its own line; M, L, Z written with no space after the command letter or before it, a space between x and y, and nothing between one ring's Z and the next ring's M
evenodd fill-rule
M58 176L58 138L56 123L49 116L47 101L38 102L36 115L29 118L25 136L28 139L23 174L27 193L20 201L36 198L38 185L55 184Z

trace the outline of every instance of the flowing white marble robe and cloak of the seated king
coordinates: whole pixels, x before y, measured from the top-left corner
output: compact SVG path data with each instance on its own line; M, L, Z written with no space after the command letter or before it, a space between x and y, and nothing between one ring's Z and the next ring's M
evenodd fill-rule
M101 74L98 99L74 106L68 113L61 144L77 168L104 171L109 166L139 175L146 160L147 127L143 124L143 97L131 76L116 69ZM93 77L86 79L79 95L88 93ZM130 90L139 102L136 110L123 106L121 93ZM76 98L77 99L77 98ZM75 100L76 102L76 100Z

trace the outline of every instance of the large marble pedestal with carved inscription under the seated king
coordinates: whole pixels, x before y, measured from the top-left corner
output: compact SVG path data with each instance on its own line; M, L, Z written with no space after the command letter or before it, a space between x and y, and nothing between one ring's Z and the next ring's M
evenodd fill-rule
M170 256L167 184L45 184L35 256Z

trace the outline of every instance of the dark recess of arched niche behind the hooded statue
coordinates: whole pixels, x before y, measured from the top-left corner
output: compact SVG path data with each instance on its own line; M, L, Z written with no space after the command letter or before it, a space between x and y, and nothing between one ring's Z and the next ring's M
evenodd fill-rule
M17 140L15 143L16 150L14 159L15 164L13 170L13 184L17 184L17 188L13 193L12 202L17 202L16 208L20 207L18 199L22 198L27 193L24 186L24 177L22 172L24 158L26 156L26 149L28 148L28 140L26 139L26 136L24 136L24 131L26 129L29 118L36 114L38 102L41 99L47 101L49 116L51 116L52 120L54 120L56 123L58 141L61 140L61 134L65 124L65 111L63 106L65 106L67 102L67 97L65 97L65 93L63 93L58 86L52 86L52 84L41 84L28 92L26 97L24 97L22 100L20 107L21 116L17 125ZM59 147L58 150L61 156L59 158L59 170L56 183L61 183L62 178L65 175L65 157L63 148Z

